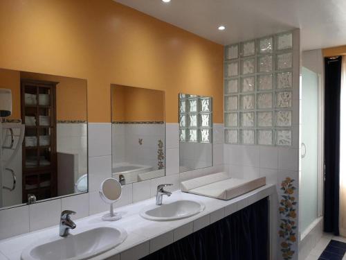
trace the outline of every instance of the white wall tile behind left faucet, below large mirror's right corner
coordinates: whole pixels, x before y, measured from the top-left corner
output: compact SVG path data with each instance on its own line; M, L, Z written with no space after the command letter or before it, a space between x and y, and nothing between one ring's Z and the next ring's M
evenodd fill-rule
M75 211L76 214L71 216L73 220L89 216L89 193L62 198L62 211L64 210Z

